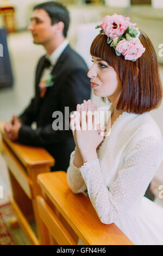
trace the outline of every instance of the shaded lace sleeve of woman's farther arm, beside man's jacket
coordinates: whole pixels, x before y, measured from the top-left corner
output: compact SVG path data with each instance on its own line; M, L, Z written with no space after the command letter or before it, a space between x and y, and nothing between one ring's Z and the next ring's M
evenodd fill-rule
M73 193L81 193L86 190L86 185L83 180L80 168L73 164L74 151L70 155L70 166L67 169L67 182Z

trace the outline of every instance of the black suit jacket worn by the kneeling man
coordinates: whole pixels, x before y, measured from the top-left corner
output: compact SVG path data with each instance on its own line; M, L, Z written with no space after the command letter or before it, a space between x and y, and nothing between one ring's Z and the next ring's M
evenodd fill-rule
M55 75L54 85L48 87L45 97L41 98L38 85L43 68L41 57L36 68L35 97L20 115L23 125L18 133L18 142L45 148L55 158L52 170L66 171L75 147L74 139L71 129L53 130L52 123L56 118L52 114L54 111L62 112L64 121L65 107L69 107L71 113L78 103L90 99L88 69L82 57L67 45L51 73ZM33 121L36 121L36 130L30 127Z

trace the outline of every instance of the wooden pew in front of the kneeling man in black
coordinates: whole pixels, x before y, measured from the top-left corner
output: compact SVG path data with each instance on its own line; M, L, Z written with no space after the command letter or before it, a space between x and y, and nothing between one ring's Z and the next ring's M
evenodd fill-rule
M46 227L36 208L36 196L41 194L36 178L40 173L50 172L54 159L43 148L11 142L4 135L3 127L4 123L0 123L1 154L7 164L12 188L10 202L17 217L16 220L11 220L10 224L12 227L19 224L31 245L41 244L41 237L43 241L48 242ZM37 235L30 227L29 222L32 220L36 222Z

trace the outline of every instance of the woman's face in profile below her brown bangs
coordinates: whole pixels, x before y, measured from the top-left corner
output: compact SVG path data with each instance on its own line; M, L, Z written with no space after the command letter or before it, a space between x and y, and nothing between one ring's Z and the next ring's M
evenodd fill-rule
M93 93L117 102L122 91L122 83L117 72L101 58L92 56L92 62L87 76L91 78Z

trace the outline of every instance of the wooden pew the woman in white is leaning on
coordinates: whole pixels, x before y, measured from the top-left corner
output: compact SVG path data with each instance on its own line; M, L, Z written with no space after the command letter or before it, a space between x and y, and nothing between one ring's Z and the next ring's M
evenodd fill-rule
M74 194L65 172L37 176L42 195L37 196L39 216L45 223L51 245L133 245L114 224L103 224L84 193ZM43 241L46 244L46 241Z

